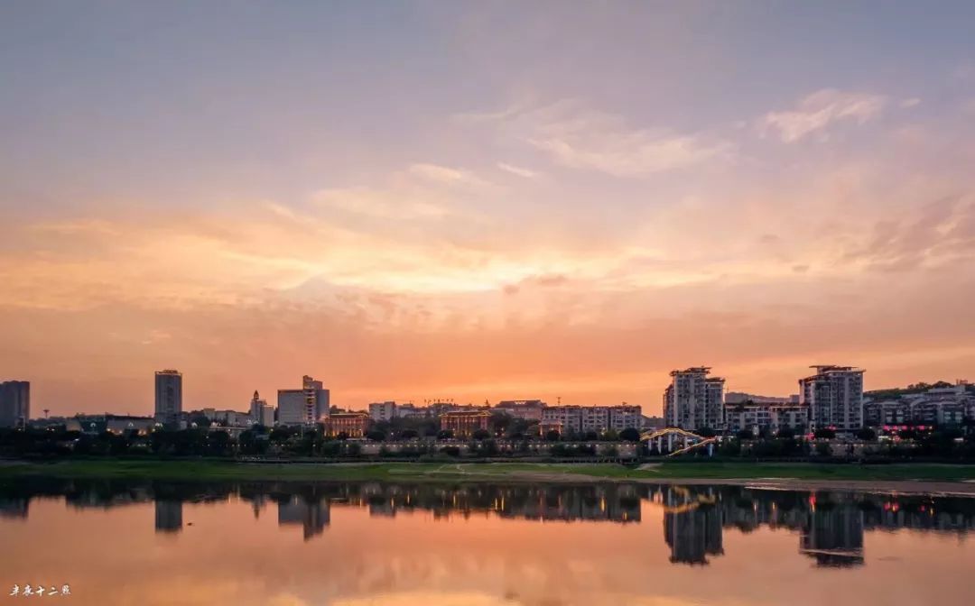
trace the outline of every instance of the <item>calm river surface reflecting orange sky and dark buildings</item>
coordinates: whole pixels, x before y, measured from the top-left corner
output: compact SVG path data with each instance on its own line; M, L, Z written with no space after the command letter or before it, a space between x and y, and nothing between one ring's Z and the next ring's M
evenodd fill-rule
M0 485L0 602L962 604L973 529L965 498L17 480Z

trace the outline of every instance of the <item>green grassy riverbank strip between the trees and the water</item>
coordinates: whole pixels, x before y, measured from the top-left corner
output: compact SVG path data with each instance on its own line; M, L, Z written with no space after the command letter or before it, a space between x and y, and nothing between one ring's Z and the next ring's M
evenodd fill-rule
M464 480L464 481L652 481L676 479L925 480L975 479L975 465L812 463L660 463L639 468L615 464L543 463L352 463L262 464L214 461L85 460L6 462L0 478L46 475L67 478L167 480Z

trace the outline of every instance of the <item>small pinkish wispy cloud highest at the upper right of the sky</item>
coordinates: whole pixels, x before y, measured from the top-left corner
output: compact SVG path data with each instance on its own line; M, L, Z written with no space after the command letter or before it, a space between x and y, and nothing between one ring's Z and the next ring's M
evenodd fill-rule
M886 104L887 97L883 95L823 89L803 98L795 109L765 114L761 129L777 131L783 141L794 143L835 122L867 123L877 118Z

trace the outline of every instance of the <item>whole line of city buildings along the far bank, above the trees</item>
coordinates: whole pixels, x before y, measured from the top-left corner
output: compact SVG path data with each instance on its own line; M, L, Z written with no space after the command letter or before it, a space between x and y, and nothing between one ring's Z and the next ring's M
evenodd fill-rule
M89 415L70 418L68 429L97 433L137 431L154 428L182 429L203 416L210 424L231 433L255 425L264 427L307 427L322 424L330 436L365 436L371 424L396 419L424 417L437 420L441 430L453 436L472 436L488 430L491 415L503 412L515 419L537 424L542 435L584 436L606 431L648 429L656 426L690 432L716 433L762 431L796 433L832 429L851 434L864 427L901 429L918 425L960 424L975 419L975 389L966 382L938 384L926 391L885 398L865 398L862 368L838 365L811 366L814 372L799 379L799 393L788 398L764 398L725 393L724 379L713 376L708 366L694 366L670 373L671 383L663 395L663 418L644 417L640 406L550 406L540 399L503 400L493 406L459 405L452 400L429 400L422 406L412 402L379 401L367 411L346 411L331 406L330 392L321 381L304 376L301 386L278 390L270 404L255 391L247 411L183 410L182 374L173 369L155 373L155 410L152 417ZM46 411L45 411L46 412ZM25 427L30 420L30 384L26 381L0 383L0 427Z

